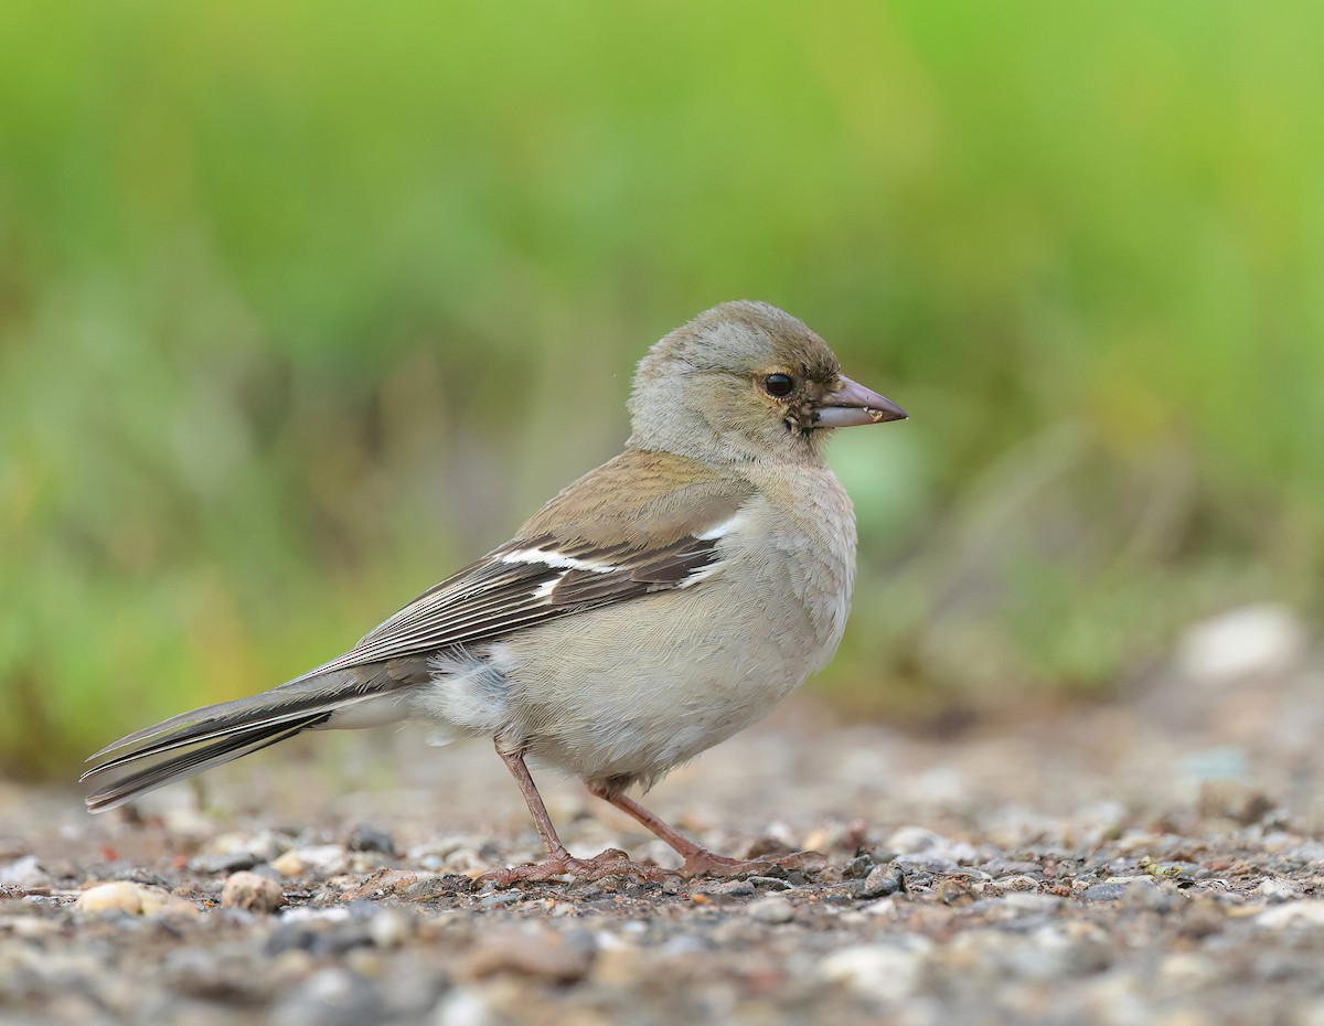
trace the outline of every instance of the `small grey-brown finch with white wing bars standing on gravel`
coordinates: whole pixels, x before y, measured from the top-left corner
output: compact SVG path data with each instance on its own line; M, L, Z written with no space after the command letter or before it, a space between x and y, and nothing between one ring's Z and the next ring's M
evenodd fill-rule
M702 847L628 792L768 714L837 650L855 581L850 498L825 446L900 421L828 344L763 302L727 302L639 361L624 450L506 544L428 589L350 651L261 694L107 745L91 812L303 731L421 722L489 739L545 859L494 879L646 874L620 850L571 855L528 765L581 780L681 857L686 875L757 861Z

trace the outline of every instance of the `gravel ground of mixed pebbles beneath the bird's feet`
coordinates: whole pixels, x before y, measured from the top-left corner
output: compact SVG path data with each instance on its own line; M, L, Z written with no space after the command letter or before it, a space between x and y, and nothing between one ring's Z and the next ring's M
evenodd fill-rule
M719 851L824 851L806 875L477 886L538 854L518 792L413 735L293 743L136 814L0 784L0 1021L1324 1026L1313 665L1190 657L940 740L801 699L650 796ZM677 864L545 793L576 853Z

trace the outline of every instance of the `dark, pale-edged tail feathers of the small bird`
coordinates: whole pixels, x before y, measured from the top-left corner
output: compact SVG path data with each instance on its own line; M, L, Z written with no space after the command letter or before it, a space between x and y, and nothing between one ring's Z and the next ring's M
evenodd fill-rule
M105 761L79 780L102 774L111 778L83 801L90 812L105 812L310 728L404 719L404 692L425 679L421 661L399 659L314 674L260 695L184 712L120 737L91 756L89 763ZM132 769L115 774L126 767Z

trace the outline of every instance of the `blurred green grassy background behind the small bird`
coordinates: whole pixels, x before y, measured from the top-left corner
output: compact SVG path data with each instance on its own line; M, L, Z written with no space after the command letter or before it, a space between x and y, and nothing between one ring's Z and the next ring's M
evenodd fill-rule
M295 675L760 298L845 433L850 715L1319 612L1324 7L0 5L0 772Z

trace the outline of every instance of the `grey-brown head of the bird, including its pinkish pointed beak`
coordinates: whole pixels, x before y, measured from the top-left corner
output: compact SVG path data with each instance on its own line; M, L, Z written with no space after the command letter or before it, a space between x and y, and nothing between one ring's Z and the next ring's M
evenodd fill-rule
M904 418L842 375L802 322L741 301L699 314L639 361L630 445L708 461L821 461L833 428Z

